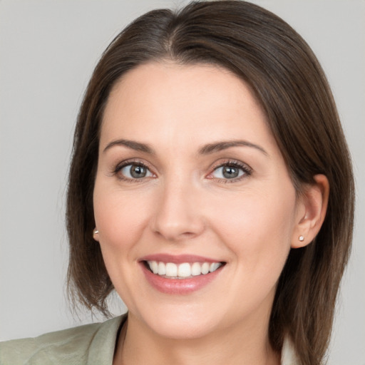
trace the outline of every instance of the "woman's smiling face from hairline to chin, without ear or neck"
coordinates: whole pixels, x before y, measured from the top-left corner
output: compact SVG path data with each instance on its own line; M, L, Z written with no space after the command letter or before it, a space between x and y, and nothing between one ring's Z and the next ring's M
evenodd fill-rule
M125 74L103 117L93 202L131 321L170 338L267 329L303 209L240 78L175 63Z

